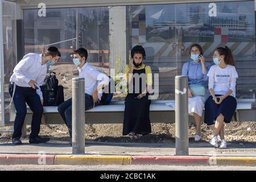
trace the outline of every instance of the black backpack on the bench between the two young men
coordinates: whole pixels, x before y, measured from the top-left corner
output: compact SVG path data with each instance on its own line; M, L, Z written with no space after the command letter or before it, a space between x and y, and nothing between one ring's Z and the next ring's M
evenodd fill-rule
M46 76L40 89L43 93L43 106L58 106L64 102L64 89L62 85L59 85L55 72Z

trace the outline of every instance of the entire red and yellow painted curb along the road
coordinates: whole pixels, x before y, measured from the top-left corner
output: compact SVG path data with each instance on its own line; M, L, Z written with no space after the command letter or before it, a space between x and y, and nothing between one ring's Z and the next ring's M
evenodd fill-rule
M256 156L0 155L0 165L255 166Z

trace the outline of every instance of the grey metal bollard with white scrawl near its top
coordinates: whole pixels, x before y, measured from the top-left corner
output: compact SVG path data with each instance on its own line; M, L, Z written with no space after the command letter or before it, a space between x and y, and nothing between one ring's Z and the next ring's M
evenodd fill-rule
M188 77L175 77L176 155L188 155Z

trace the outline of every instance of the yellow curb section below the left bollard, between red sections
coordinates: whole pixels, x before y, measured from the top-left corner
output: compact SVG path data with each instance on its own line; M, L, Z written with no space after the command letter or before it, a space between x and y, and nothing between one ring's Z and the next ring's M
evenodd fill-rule
M56 155L55 164L66 165L130 165L131 156L111 155Z

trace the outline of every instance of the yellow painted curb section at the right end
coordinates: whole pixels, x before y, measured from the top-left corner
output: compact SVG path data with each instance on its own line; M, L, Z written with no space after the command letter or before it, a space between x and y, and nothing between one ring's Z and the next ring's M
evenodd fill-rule
M220 166L256 166L256 157L210 156L209 164Z

